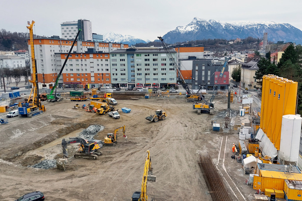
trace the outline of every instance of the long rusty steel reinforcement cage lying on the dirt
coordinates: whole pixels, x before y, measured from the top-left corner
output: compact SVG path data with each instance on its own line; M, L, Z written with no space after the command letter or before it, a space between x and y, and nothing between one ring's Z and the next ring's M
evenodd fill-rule
M199 153L198 160L199 167L204 175L204 180L207 183L212 199L215 201L232 201L209 153Z

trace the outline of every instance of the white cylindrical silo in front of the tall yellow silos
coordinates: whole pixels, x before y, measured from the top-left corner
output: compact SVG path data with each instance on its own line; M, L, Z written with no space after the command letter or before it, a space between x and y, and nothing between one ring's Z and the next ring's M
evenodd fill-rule
M282 164L296 165L299 157L302 118L300 115L283 115L281 125L280 159Z

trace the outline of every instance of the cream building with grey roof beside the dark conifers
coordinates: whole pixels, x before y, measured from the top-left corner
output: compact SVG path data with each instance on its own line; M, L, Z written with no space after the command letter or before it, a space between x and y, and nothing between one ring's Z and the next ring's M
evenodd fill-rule
M256 87L260 87L254 78L256 71L259 69L258 61L252 60L241 67L241 87L248 88L249 91L255 91Z

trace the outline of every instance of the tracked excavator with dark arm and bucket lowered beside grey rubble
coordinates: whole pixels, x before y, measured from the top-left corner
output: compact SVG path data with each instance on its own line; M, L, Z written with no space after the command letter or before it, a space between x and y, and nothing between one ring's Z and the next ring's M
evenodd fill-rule
M57 168L65 171L65 166L68 159L67 145L73 143L80 143L79 153L76 153L74 157L76 159L94 159L98 158L98 155L102 155L99 149L103 147L101 140L84 140L81 137L69 137L62 140L63 159L56 161Z

